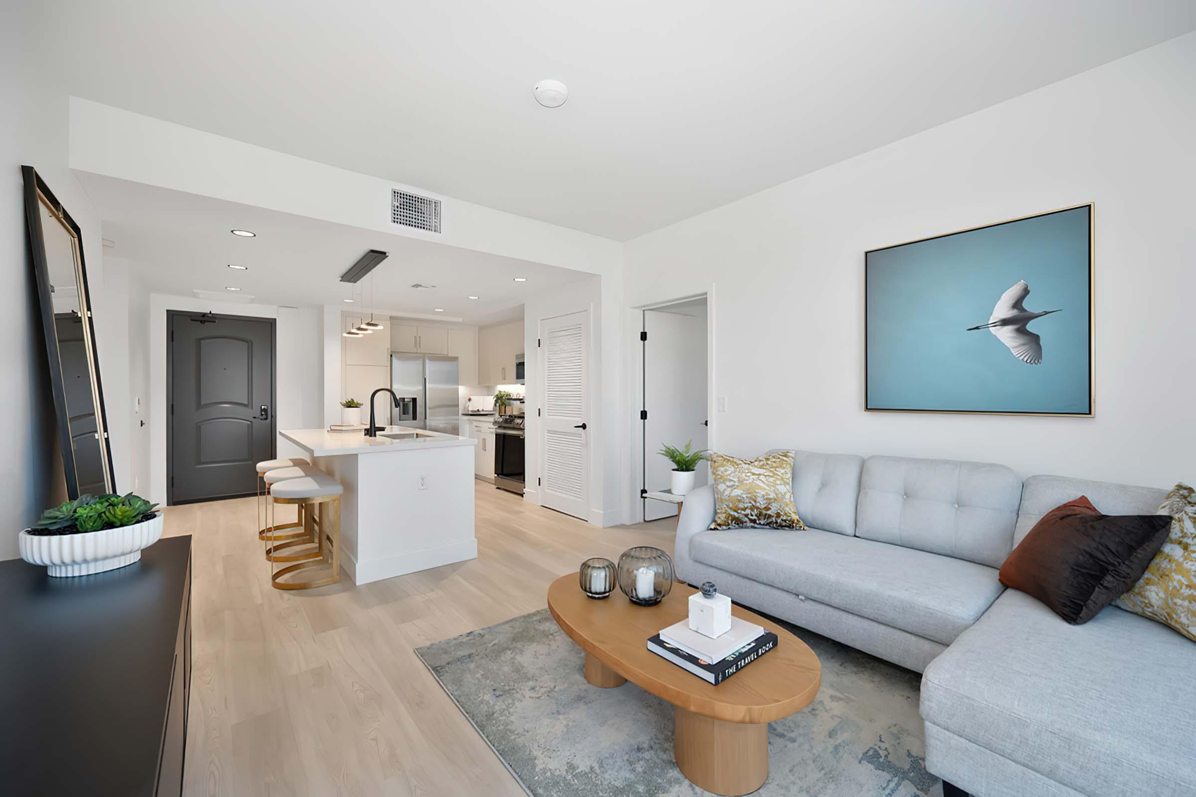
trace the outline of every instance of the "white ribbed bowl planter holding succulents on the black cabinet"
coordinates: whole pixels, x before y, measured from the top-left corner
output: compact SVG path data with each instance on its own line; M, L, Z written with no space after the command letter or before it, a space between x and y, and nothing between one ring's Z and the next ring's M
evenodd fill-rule
M89 576L93 572L116 570L141 558L161 537L161 513L151 520L77 534L19 535L20 558L30 564L45 565L50 576Z

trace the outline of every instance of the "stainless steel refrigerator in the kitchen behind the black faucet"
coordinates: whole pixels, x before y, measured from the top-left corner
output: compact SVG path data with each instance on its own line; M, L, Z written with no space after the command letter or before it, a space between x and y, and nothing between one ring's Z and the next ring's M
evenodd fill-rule
M398 397L391 410L396 427L414 427L456 435L460 430L457 357L392 354L390 387Z

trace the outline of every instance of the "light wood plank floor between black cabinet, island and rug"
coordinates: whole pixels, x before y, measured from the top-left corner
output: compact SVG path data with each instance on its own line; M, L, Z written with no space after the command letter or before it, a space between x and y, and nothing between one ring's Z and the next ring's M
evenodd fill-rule
M676 519L600 529L482 482L476 501L477 559L294 593L252 498L166 509L193 535L184 795L523 795L415 648L544 608L587 557L672 553Z

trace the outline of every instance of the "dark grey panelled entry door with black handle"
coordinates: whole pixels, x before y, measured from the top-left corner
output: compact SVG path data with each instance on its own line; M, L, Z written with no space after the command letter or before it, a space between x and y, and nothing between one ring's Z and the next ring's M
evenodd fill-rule
M251 495L274 456L274 321L170 313L169 503Z

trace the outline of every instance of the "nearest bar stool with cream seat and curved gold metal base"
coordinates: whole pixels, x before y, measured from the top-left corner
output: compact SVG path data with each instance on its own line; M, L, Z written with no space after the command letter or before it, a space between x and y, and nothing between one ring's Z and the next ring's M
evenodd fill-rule
M312 529L319 560L306 560L274 570L270 558L270 584L275 589L311 589L341 581L341 483L322 471L276 482L270 488L270 502L298 504L304 509L305 526ZM285 576L311 568L330 566L332 572L309 581L282 581Z

